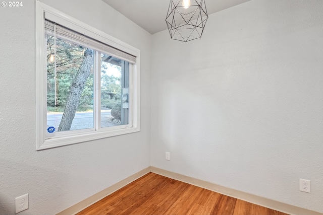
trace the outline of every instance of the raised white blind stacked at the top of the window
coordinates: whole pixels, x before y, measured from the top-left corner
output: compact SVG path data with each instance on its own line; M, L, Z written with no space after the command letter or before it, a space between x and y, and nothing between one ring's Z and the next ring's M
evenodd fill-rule
M106 45L93 38L87 37L69 28L53 23L49 20L45 20L45 32L50 35L61 37L62 39L71 40L78 43L79 45L93 48L106 54L110 54L111 56L126 60L130 63L136 63L136 57L131 54L128 54L110 45Z

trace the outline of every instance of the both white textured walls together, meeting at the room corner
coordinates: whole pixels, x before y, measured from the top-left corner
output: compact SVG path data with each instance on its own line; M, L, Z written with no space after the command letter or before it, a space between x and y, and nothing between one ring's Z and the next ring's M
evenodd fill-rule
M55 214L121 181L150 165L150 138L152 166L323 212L323 1L253 0L152 47L100 0L42 2L141 50L141 131L36 152L35 1L1 7L1 215L25 193L20 214Z

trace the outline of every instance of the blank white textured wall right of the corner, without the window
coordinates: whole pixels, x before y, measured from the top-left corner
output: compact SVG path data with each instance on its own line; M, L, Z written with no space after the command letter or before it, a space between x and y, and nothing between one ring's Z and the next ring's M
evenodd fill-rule
M154 34L151 166L323 212L322 8L253 0L201 39Z

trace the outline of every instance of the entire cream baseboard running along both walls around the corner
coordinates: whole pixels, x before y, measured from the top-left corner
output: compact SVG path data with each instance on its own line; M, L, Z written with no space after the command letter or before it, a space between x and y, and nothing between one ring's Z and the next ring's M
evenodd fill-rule
M323 215L323 213L320 212L316 212L316 211L312 211L312 210L308 210L302 207L297 207L294 205L290 205L290 204L286 204L286 203L282 203L279 201L275 201L272 199L267 199L264 197L260 197L260 196L256 196L250 193L245 193L239 190L234 190L231 188L227 188L227 187L223 187L217 184L213 184L211 182L207 182L207 181L202 181L196 178L192 178L189 176L185 176L185 175L181 175L178 173L174 173L174 172L170 172L167 170L163 170L163 169L159 169L156 167L147 167L141 171L139 171L138 173L135 173L134 175L129 176L128 178L72 205L71 207L68 207L65 210L62 210L61 212L57 213L56 215L75 215L76 213L82 211L83 209L85 209L86 207L94 204L95 202L101 200L102 198L110 195L111 193L119 190L120 188L126 186L127 184L135 181L136 179L140 178L141 176L152 172L152 173L156 173L158 175L163 175L166 176L168 178L172 178L178 181L182 181L188 184L192 184L198 187L202 187L214 192L218 192L227 196L231 196L237 199L241 199L250 203L254 203L260 206L264 206L267 208L271 208L274 210L278 210L284 213L288 213L291 215Z

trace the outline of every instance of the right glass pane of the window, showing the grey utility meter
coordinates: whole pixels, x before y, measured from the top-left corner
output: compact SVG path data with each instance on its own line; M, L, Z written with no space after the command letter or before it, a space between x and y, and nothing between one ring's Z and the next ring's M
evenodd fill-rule
M128 66L125 67L125 64ZM128 70L126 73L125 69ZM122 96L125 96L125 85L128 87L128 74L128 62L101 54L101 127L129 123L128 118L124 117L124 112L128 115L129 105L127 107L123 105L124 102L128 103L128 100L122 100ZM127 76L126 80L125 76Z

